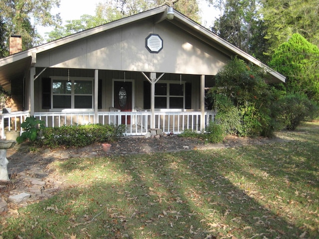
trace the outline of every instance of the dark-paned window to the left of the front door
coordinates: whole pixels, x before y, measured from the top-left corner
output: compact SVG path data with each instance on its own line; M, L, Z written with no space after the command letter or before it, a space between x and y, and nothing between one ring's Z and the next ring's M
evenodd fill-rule
M60 78L60 79L59 79ZM93 80L54 77L52 80L53 109L92 109Z

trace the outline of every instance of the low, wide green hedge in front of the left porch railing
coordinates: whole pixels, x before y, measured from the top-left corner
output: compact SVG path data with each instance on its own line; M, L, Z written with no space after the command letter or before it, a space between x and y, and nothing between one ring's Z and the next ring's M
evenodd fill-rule
M126 126L113 124L64 125L47 128L43 135L43 145L50 148L83 147L96 142L113 142L123 136Z

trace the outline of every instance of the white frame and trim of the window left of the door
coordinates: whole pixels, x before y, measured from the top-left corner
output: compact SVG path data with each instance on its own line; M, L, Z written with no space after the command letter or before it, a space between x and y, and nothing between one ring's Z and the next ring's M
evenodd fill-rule
M67 77L67 76L50 76L51 79L51 109L50 112L91 112L94 110L94 78L93 77ZM53 108L53 81L54 80L70 80L72 83L71 87L71 108ZM83 96L92 96L92 108L74 108L74 96L78 96L79 94L74 94L74 81L92 81L92 94L81 94ZM66 94L69 95L69 94Z

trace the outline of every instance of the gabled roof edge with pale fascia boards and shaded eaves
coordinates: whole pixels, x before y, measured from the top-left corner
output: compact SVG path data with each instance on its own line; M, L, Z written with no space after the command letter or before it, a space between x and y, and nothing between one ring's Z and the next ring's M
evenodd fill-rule
M28 50L25 50L13 55L9 55L4 58L0 58L0 84L3 83L4 78L6 78L9 75L12 76L13 74L18 76L19 73L20 74L24 73L25 66L27 65L30 66L36 63L36 54L40 52L51 50L55 47L59 47L61 45L71 43L73 41L77 41L85 37L90 37L94 34L97 34L103 31L122 27L126 24L134 23L147 18L154 17L156 19L156 23L163 20L168 20L167 10L168 10L168 6L163 5L148 11L138 13L136 15L125 17L119 20L106 23L104 25L100 25L91 29L81 31L81 32L57 39L55 41L51 41L43 45L30 48ZM200 39L201 41L205 42L206 44L210 45L213 48L216 48L216 46L218 46L219 51L222 51L224 54L230 57L237 55L239 58L252 62L253 64L261 67L262 69L264 69L266 72L270 74L273 81L285 82L286 78L280 73L269 68L267 65L265 65L261 61L257 60L256 58L244 52L243 50L235 47L234 45L230 44L226 40L220 38L216 34L212 33L211 31L201 26L200 24L194 22L193 20L189 19L188 17L184 16L180 12L176 10L173 10L173 11L174 11L174 18L172 20L169 20L172 24L180 27L187 33Z

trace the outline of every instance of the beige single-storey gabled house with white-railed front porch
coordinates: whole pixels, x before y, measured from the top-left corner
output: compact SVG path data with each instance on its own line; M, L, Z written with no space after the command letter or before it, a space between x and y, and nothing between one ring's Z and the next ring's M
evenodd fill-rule
M234 56L285 82L167 5L9 55L0 59L0 85L14 110L2 115L1 136L29 115L47 126L126 124L127 135L200 131L215 114L205 88Z

